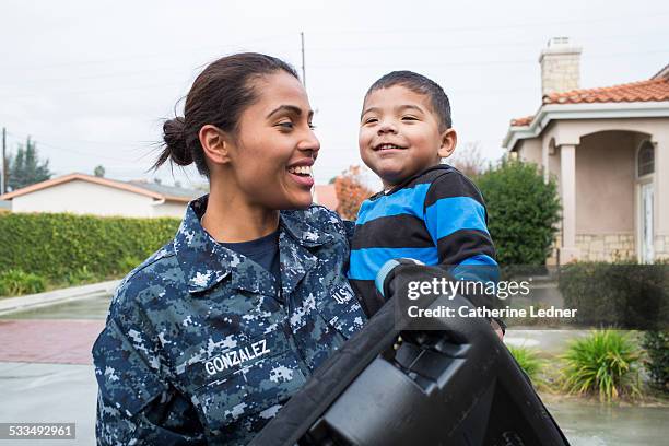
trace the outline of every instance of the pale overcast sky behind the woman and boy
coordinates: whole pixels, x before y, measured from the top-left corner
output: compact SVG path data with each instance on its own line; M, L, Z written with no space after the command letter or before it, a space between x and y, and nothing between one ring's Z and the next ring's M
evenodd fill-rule
M467 4L466 4L467 3ZM583 47L582 87L650 78L669 62L664 1L8 1L0 3L0 127L30 134L57 175L201 183L145 171L162 119L210 61L267 52L301 70L321 142L317 183L360 164L362 97L391 70L437 81L459 148L503 154L513 117L540 105L538 57L552 36Z

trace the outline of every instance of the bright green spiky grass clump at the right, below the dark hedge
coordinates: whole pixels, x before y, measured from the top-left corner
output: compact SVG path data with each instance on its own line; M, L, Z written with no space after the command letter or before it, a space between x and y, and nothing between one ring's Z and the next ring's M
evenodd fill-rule
M638 349L626 334L596 330L573 341L562 356L564 388L580 395L598 394L611 401L622 396L641 395L637 365Z

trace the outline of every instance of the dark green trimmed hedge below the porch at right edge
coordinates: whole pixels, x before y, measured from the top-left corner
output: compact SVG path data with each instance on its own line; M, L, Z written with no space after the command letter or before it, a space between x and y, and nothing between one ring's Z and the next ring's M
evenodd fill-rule
M666 263L575 262L561 268L559 287L577 324L646 330L669 320Z

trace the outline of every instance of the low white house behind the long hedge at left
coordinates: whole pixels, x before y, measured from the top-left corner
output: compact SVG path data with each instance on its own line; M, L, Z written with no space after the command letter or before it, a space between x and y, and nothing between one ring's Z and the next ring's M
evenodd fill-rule
M10 200L12 212L181 219L186 204L204 193L143 181L70 174L4 193L0 200Z

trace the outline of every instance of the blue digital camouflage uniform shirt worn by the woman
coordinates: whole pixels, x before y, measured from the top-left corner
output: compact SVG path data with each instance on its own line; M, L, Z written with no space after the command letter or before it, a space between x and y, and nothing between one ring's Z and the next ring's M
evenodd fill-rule
M246 444L365 321L336 213L281 211L277 290L202 228L207 199L111 301L93 347L98 444Z

